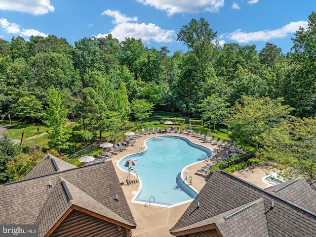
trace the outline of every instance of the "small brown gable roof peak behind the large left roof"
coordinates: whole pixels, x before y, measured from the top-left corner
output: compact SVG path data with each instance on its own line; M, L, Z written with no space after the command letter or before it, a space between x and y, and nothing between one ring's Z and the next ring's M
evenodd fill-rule
M77 166L69 164L55 156L46 155L36 166L23 177L22 180L39 177L42 175L53 174L59 171L76 168Z

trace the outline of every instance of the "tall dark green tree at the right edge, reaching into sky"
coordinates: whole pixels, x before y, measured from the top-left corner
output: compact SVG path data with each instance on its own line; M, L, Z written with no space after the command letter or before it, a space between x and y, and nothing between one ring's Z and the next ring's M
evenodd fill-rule
M308 27L300 27L293 40L290 70L285 79L285 101L294 107L296 116L316 114L316 12L309 16Z

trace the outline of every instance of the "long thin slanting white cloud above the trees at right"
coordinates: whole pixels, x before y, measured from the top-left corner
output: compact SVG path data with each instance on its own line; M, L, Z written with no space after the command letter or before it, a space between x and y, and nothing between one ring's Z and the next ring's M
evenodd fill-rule
M308 22L290 22L289 24L276 30L264 30L250 33L242 32L240 29L238 29L237 31L227 35L226 38L235 40L238 43L248 43L250 41L268 41L271 39L284 38L288 34L295 33L300 26L306 28L308 26Z

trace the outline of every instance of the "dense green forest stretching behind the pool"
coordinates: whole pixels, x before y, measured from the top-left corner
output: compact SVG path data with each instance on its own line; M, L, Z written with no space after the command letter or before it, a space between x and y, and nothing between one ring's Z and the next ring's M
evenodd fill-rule
M67 144L65 124L76 119L85 139L94 131L116 132L153 110L177 111L225 124L236 141L285 159L306 177L316 174L316 12L295 33L290 52L267 43L220 47L203 18L177 34L183 53L83 38L0 39L0 116L43 122L50 146ZM303 142L302 142L303 141Z

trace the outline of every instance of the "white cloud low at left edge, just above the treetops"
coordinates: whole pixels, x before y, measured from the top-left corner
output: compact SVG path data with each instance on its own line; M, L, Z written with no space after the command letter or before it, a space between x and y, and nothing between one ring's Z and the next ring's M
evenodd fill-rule
M15 34L15 35L21 35L21 36L42 36L42 37L47 37L46 34L39 32L37 30L33 29L23 29L22 31L20 30L20 25L8 22L7 19L5 18L0 18L0 27L5 30L6 33L8 34Z

